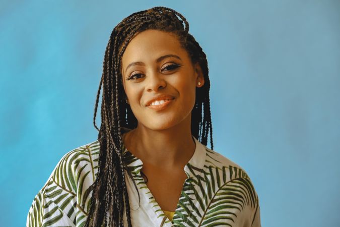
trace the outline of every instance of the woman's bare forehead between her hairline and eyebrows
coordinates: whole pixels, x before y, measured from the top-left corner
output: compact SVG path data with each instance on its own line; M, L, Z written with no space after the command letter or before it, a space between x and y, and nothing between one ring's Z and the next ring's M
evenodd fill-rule
M131 62L148 62L162 54L187 55L176 34L146 30L135 35L122 56L122 68Z

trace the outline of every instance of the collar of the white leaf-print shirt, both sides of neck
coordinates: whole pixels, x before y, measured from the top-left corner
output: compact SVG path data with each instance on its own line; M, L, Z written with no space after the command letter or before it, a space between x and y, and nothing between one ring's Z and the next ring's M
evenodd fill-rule
M130 129L122 128L123 132L130 131ZM204 164L206 162L207 150L206 146L201 144L194 136L192 136L195 142L195 151L190 160L184 166L184 172L188 178L199 175L203 171ZM128 151L123 144L123 160L127 165L127 170L132 175L141 176L141 169L143 168L143 162L138 157L134 156Z

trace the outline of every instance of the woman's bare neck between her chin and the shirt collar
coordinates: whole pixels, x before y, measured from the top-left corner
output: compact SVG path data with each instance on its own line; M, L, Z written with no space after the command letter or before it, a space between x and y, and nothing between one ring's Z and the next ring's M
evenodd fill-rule
M164 130L151 130L143 125L126 133L127 150L144 164L163 168L182 168L192 157L195 143L191 137L191 118Z

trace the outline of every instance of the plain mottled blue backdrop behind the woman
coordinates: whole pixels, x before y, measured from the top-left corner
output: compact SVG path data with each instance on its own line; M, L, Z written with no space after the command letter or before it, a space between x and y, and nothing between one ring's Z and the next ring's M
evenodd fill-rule
M207 53L214 150L247 171L262 226L340 225L340 1L0 3L1 226L24 226L63 154L97 139L109 35L154 6Z

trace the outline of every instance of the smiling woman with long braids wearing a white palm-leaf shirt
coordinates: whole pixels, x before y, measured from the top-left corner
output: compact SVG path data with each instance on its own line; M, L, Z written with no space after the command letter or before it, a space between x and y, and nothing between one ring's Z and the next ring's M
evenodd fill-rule
M27 226L260 226L249 177L212 150L208 63L188 29L164 7L114 28L98 140L59 161Z

